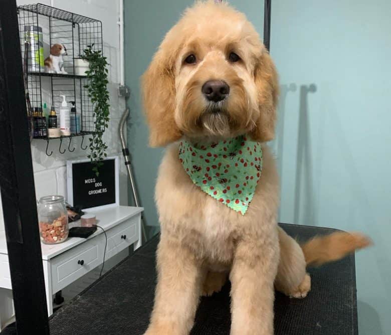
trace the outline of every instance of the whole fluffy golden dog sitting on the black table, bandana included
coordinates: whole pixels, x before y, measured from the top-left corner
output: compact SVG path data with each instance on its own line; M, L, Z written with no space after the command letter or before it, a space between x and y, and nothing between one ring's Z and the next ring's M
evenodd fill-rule
M278 77L259 35L227 4L198 2L142 78L150 144L167 146L155 199L161 225L147 335L188 334L203 294L229 278L232 335L273 334L274 289L305 297L309 263L369 240L337 232L300 246L277 225Z

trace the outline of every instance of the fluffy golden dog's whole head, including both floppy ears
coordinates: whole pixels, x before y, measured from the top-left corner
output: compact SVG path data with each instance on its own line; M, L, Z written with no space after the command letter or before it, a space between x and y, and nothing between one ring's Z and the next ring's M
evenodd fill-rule
M198 3L167 33L143 76L150 144L249 133L273 138L277 74L246 17Z

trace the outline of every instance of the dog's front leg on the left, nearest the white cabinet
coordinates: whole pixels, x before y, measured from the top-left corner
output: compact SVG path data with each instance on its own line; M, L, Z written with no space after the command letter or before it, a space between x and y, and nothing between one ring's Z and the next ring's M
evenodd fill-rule
M162 237L157 272L155 302L145 335L186 335L194 322L205 270L188 249Z

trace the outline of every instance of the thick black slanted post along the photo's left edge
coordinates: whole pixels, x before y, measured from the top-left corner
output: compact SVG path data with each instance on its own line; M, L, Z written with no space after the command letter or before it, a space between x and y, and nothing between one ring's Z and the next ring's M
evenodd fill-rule
M15 0L0 2L0 188L18 334L49 334Z

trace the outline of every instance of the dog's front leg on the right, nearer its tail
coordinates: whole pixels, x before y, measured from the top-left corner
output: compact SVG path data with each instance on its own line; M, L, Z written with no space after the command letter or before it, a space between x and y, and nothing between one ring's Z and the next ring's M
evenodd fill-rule
M239 242L230 273L231 335L273 334L273 282L277 272L277 234L268 240Z

